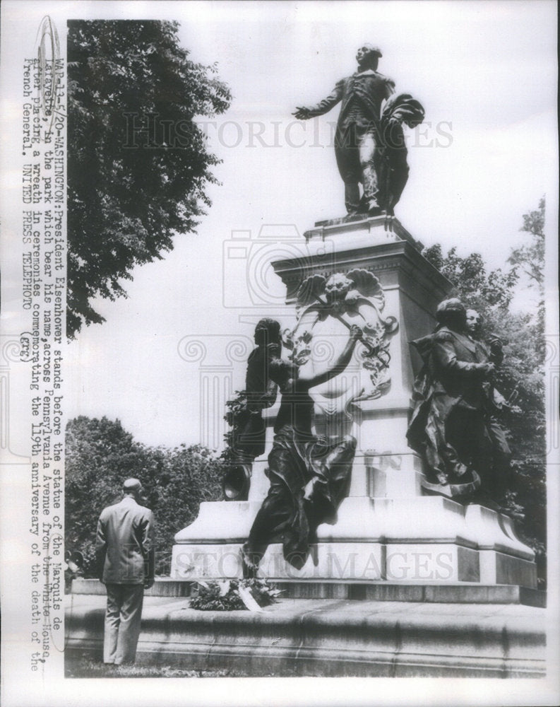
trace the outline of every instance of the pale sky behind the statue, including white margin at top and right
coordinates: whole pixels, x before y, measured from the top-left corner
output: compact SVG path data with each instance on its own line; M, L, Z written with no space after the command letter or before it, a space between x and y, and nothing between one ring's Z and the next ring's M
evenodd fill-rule
M213 206L196 235L178 235L165 260L136 269L128 299L98 302L107 322L69 347L69 417L119 418L150 445L220 442L223 399L243 386L250 350L234 341L249 346L262 316L290 315L270 259L302 247L298 234L314 221L345 213L330 137L338 107L307 123L290 114L352 74L363 42L381 47L379 71L426 110L408 133L410 180L396 209L415 238L501 266L523 240L522 214L543 194L556 199L552 2L77 8L85 18L176 19L191 59L218 62L233 100L208 125L222 184L208 189ZM263 240L271 234L278 240ZM229 257L230 240L246 257Z

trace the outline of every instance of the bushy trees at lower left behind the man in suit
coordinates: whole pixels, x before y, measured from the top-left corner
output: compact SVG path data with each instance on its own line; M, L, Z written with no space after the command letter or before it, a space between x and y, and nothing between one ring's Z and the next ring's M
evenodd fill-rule
M140 479L155 515L156 573L169 575L174 534L221 496L222 462L201 445L172 450L135 442L117 421L80 416L66 426L66 548L85 557L95 576L97 518L122 498L124 479Z

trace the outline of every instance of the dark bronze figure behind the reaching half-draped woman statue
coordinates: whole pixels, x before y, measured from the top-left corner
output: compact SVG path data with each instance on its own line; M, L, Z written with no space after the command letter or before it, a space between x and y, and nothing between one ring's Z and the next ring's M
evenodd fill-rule
M247 359L245 390L228 403L226 419L232 426L233 463L222 481L226 501L246 501L252 464L265 450L266 422L262 411L276 400L278 386L270 379L268 366L271 358L280 356L280 324L261 319L255 327L255 344L256 349Z

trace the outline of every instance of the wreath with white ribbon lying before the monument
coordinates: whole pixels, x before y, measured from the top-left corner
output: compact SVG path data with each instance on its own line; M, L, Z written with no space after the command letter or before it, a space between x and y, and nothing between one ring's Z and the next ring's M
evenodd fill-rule
M280 589L268 586L264 579L226 579L198 581L196 596L191 599L191 609L203 612L232 612L249 609L262 611L278 601Z

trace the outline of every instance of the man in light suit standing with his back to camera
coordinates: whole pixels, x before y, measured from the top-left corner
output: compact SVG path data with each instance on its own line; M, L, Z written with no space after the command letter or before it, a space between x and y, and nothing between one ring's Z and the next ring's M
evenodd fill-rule
M107 588L103 661L133 663L140 635L144 589L154 582L154 523L138 502L142 484L126 479L124 498L102 510L95 554Z

